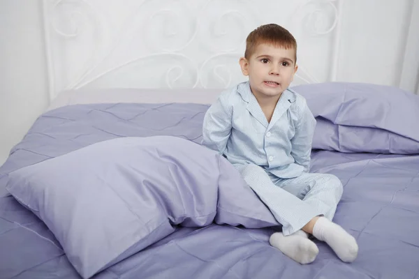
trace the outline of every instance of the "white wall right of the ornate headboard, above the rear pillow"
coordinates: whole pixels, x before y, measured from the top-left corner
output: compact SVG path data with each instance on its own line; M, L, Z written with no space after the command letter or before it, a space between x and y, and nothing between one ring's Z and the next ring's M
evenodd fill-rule
M410 40L419 38L418 21L411 21L413 11L413 20L419 17L418 4L413 0L346 1L339 80L399 86L405 63L415 62L410 82L416 83L418 62L411 60L419 58L419 44L413 49L411 42L412 48L406 50L406 40L409 35ZM415 86L409 89L417 90Z

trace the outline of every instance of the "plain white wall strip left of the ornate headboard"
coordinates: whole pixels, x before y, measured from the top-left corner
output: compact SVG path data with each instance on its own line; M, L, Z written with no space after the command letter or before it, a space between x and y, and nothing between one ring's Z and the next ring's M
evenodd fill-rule
M41 10L0 0L0 165L47 106Z

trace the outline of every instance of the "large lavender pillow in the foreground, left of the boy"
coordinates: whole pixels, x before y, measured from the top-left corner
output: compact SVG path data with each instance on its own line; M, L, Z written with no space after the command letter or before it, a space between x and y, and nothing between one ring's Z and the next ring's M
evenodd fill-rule
M233 165L179 137L108 140L8 175L7 190L43 220L83 278L176 225L279 225Z

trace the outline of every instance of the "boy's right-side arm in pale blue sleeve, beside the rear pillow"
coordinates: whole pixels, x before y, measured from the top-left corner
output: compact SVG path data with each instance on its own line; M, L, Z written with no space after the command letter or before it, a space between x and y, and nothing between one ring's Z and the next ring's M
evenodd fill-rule
M291 139L291 155L294 157L295 163L304 167L304 172L309 172L311 144L315 127L316 119L304 100L297 127L295 128L295 135Z

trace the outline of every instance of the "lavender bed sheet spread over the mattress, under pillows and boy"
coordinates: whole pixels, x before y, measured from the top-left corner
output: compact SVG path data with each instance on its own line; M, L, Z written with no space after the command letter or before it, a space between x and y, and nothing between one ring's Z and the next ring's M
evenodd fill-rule
M43 114L0 167L0 278L80 278L54 235L5 190L24 165L116 137L173 135L200 142L207 105L71 105ZM324 243L301 266L272 248L273 229L181 228L94 278L411 278L419 276L419 156L314 151L311 172L335 174L335 222L360 246L344 264Z

